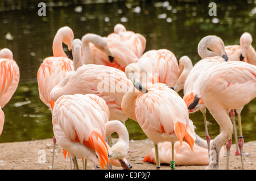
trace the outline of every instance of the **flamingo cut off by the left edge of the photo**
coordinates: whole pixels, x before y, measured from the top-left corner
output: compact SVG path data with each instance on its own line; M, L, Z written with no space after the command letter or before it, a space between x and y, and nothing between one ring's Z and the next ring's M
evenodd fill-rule
M13 52L8 48L0 50L0 135L3 131L5 115L2 108L10 101L19 84L19 66L13 60Z

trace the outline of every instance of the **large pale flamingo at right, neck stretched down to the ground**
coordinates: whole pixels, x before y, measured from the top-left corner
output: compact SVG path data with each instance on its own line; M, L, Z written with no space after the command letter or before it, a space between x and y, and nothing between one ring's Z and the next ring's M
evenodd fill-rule
M216 157L216 162L210 162L207 169L220 169L220 148L229 140L233 132L229 110L236 110L238 124L241 125L242 108L255 98L255 90L256 66L245 62L230 61L226 64L219 64L214 69L209 70L201 79L201 98L221 128L221 133L210 144L210 150ZM241 94L241 92L246 92L246 94ZM242 129L239 132L238 145L241 153L242 169L244 169Z

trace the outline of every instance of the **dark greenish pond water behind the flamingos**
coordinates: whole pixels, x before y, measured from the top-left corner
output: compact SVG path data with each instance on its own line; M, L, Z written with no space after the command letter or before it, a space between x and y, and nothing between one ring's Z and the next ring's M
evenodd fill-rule
M38 2L32 2L29 9L0 11L0 48L10 48L20 68L18 89L3 108L5 125L0 142L52 138L51 112L39 99L36 73L43 59L52 56L52 40L60 27L71 27L75 37L81 39L88 32L107 36L113 32L115 24L122 23L127 30L146 37L146 51L166 48L178 59L189 56L193 64L200 60L197 43L206 35L220 36L225 45L239 44L245 31L256 37L255 1L218 1L217 16L208 15L208 3L193 1L51 3L47 6L46 16L38 16ZM8 32L11 38L6 39ZM256 41L253 47L256 47ZM182 92L180 95L183 96ZM220 128L209 112L207 117L211 123L209 134L214 138ZM196 133L204 137L201 112L190 114L190 118ZM131 139L146 138L135 121L126 123ZM254 99L242 111L245 141L256 140L255 123Z

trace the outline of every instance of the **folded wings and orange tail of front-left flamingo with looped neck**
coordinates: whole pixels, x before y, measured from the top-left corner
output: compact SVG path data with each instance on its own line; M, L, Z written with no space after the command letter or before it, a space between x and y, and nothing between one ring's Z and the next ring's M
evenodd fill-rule
M96 151L104 169L108 162L105 123L109 110L105 101L93 94L61 96L53 110L56 123L73 142L80 142Z

